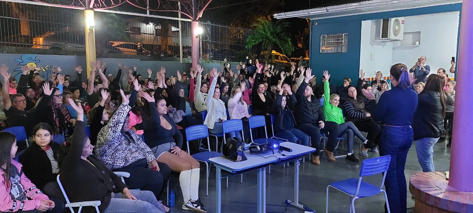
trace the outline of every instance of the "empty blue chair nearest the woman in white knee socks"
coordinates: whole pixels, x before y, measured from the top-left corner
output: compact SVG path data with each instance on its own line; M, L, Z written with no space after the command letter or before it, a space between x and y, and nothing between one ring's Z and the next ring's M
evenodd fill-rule
M208 151L201 152L201 153L195 153L195 154L192 155L192 157L197 161L205 163L205 166L206 166L206 170L205 170L206 172L205 173L207 175L207 179L206 179L207 180L207 188L206 188L207 191L206 191L205 195L209 196L209 173L210 173L209 159L214 158L214 157L222 156L223 154L210 151L209 132L207 130L207 125L201 124L201 125L194 125L194 126L186 128L185 129L185 138L186 138L186 144L187 144L187 153L189 153L189 154L190 154L190 152L189 152L189 141L202 139L202 138L207 138ZM211 165L211 163L210 163L210 165ZM227 183L228 183L228 179L227 179Z

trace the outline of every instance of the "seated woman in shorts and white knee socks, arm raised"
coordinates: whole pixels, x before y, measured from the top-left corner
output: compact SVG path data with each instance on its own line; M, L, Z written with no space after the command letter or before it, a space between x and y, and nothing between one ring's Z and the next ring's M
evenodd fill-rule
M167 114L163 97L143 94L148 104L143 106L145 143L151 148L158 162L166 163L173 171L180 172L179 185L184 201L182 209L206 213L199 199L200 164L187 152L182 152L183 137Z

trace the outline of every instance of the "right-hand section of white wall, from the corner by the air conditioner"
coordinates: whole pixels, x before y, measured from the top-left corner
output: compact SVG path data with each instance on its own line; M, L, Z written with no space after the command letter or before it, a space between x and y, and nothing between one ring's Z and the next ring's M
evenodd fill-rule
M458 18L459 12L405 17L404 32L420 31L420 46L396 47L400 42L394 43L393 62L412 68L420 56L425 56L430 74L437 73L438 68L448 70L456 55Z

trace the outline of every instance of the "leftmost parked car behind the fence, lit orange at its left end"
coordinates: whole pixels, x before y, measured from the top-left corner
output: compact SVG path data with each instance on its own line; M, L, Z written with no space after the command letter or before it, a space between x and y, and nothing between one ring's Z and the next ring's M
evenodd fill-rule
M70 32L46 32L33 38L31 48L77 51L85 48L85 37Z

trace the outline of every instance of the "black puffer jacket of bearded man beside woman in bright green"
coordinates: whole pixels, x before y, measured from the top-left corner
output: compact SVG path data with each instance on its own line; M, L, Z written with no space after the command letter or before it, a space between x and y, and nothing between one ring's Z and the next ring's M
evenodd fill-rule
M310 102L304 97L306 87L307 83L303 81L296 92L297 103L294 109L296 122L298 125L303 123L318 125L319 121L325 122L324 111L322 111L320 102L314 95L312 95Z

